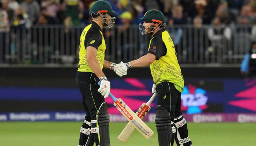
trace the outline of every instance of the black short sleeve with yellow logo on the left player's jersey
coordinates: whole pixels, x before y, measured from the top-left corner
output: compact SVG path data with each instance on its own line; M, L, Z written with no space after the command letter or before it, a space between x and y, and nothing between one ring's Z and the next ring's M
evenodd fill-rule
M100 32L88 31L85 37L84 46L95 47L98 49L99 45L102 43L102 35Z

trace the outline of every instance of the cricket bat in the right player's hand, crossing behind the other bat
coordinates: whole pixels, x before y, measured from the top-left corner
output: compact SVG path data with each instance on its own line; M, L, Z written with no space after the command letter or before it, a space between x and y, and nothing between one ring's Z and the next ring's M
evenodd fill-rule
M139 110L136 112L136 115L138 115L138 117L140 119L144 119L144 117L147 115L148 111L150 111L151 107L150 104L152 103L152 101L155 99L155 96L157 96L157 93L154 93L151 98L147 101L147 103L143 103ZM131 122L129 122L124 130L121 132L121 134L118 136L118 139L125 143L128 141L129 137L132 135L133 131L135 130L135 127L133 126L133 124Z

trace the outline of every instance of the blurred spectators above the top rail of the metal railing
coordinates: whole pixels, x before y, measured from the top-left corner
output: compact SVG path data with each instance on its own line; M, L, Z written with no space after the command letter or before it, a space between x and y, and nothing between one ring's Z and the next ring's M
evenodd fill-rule
M90 23L93 0L0 0L1 31L10 26ZM107 0L116 11L117 24L138 24L149 9L159 9L166 24L248 26L256 24L255 0Z

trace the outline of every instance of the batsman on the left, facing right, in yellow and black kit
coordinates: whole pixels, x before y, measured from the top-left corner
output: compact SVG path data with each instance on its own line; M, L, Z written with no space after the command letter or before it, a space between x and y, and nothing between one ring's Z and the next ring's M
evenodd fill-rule
M92 23L86 26L80 37L79 63L76 84L83 97L85 120L80 128L78 146L110 146L109 114L105 98L110 91L110 82L102 68L114 70L118 76L127 74L127 68L104 60L106 44L102 35L103 26L111 28L116 18L112 6L103 0L91 6ZM99 86L97 83L101 81Z

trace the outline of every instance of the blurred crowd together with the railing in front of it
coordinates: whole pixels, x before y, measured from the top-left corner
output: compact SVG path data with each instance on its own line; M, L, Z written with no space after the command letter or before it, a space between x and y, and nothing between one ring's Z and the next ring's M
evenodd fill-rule
M90 24L94 0L0 1L0 51L5 54L0 55L0 63L12 58L24 61L26 55L30 62L42 55L41 61L34 61L38 63L54 54L53 59L60 55L77 58L80 32ZM111 49L106 58L113 61L146 53L148 41L140 37L138 23L143 23L139 18L150 9L165 15L181 63L241 63L256 41L256 0L106 1L117 18L114 28L103 30Z

